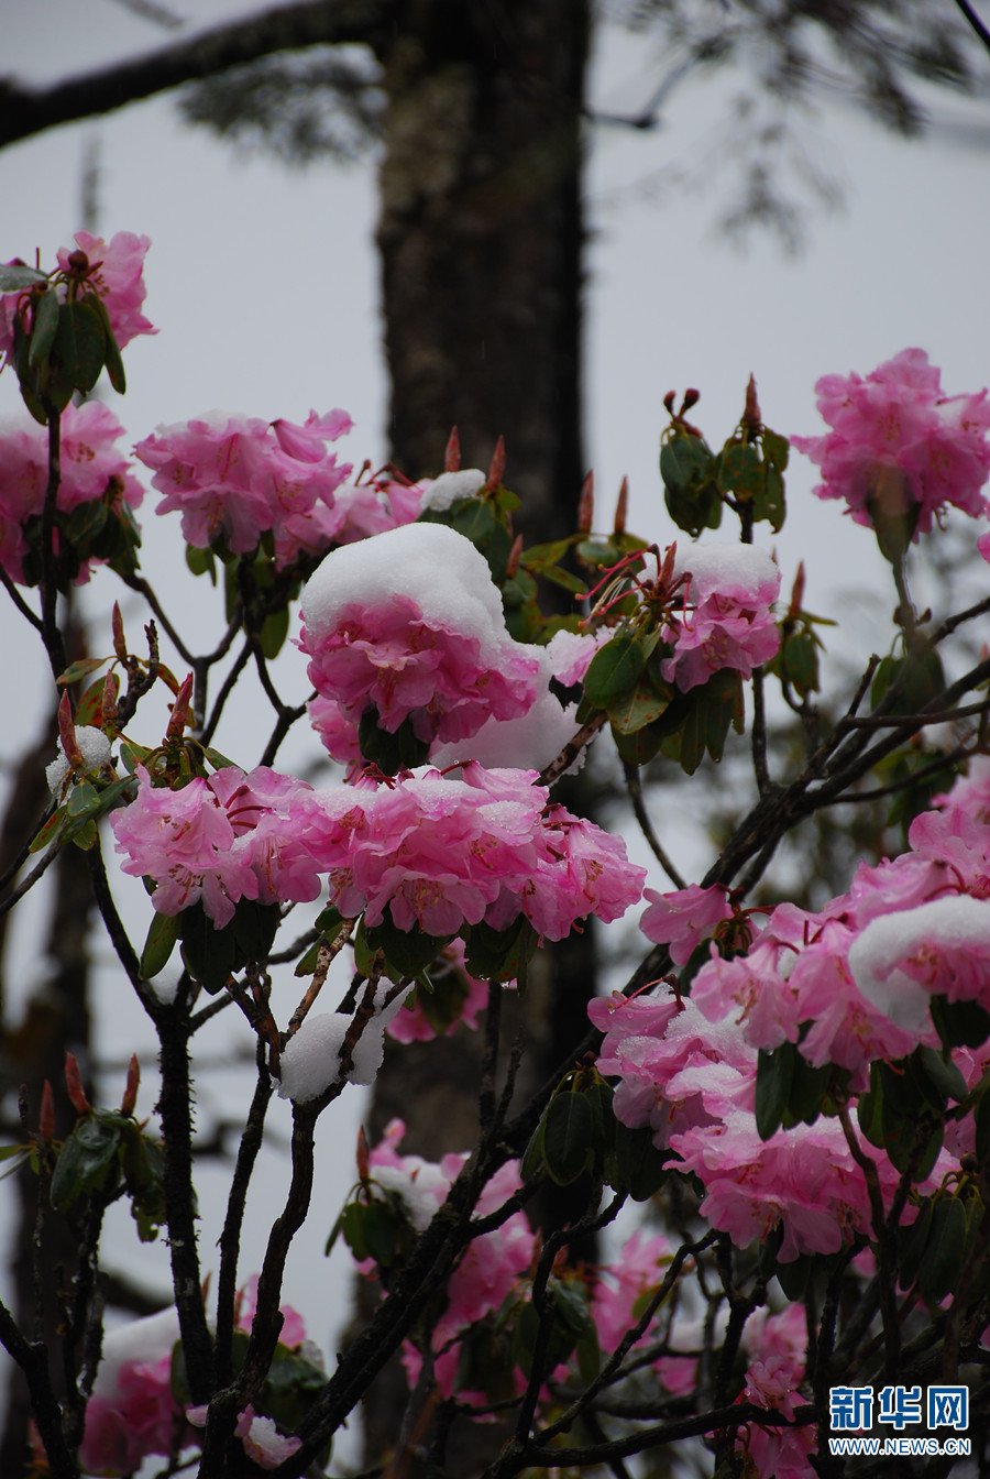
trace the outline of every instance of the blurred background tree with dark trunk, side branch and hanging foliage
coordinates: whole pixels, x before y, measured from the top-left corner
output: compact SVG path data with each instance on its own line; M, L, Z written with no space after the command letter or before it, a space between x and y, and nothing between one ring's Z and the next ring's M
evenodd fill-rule
M638 4L619 15L644 35L662 35L671 56L653 99L622 123L656 124L669 89L690 68L755 62L752 93L733 120L749 155L745 188L726 214L730 225L764 220L791 237L795 211L771 169L774 151L786 145L789 108L805 105L817 87L839 87L910 132L922 123L913 77L975 81L963 22L949 25L918 3ZM436 472L457 422L465 458L485 464L499 432L513 427L510 482L523 494L530 537L551 538L569 525L584 470L581 151L590 24L584 6L569 0L285 6L47 95L9 84L0 136L12 142L217 72L229 80L225 127L239 133L251 102L238 111L229 99L248 86L256 89L242 92L248 99L259 86L285 92L285 62L254 62L241 75L229 75L231 65L284 49L365 44L377 68L332 55L324 61L322 75L300 89L293 136L297 152L300 143L312 152L316 135L306 118L325 112L330 98L337 112L380 127L386 141L378 243L392 454L414 476ZM384 96L381 109L369 89ZM216 121L211 92L192 96L188 108ZM338 130L332 138L340 145ZM559 969L566 979L575 967L587 984L587 958ZM564 1000L576 1000L570 985ZM547 1035L559 1043L560 1028Z

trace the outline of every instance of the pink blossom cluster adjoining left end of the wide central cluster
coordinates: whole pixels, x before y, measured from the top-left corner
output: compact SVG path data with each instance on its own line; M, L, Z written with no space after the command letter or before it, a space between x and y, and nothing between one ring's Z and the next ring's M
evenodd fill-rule
M217 929L233 918L238 899L309 901L319 893L313 859L296 824L303 781L264 766L245 775L236 766L208 779L195 776L179 791L155 787L137 768L137 797L114 812L124 873L155 880L154 905L177 914L202 904Z

